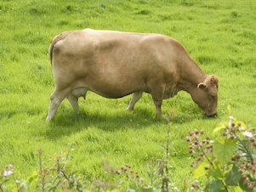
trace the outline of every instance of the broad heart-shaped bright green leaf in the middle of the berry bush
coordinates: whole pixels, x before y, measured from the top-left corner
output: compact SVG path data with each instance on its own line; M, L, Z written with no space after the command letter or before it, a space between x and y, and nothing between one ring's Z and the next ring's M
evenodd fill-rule
M236 150L236 140L225 140L224 144L216 141L213 144L213 154L216 156L217 160L225 165L230 162L231 157L233 156Z

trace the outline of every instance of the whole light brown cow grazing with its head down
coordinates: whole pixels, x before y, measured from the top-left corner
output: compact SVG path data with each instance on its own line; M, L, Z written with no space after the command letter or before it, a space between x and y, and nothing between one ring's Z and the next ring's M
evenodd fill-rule
M134 93L128 110L143 92L150 93L156 115L162 99L184 90L206 116L217 114L218 78L208 76L176 40L159 34L122 31L66 31L49 48L55 89L50 96L47 121L63 99L77 110L77 99L93 91L117 99Z

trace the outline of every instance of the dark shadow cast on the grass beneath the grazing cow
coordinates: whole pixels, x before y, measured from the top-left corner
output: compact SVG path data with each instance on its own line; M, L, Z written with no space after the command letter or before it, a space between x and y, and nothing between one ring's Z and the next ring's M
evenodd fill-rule
M60 111L54 120L48 123L46 137L49 139L58 139L79 133L82 130L97 128L106 132L115 132L120 129L144 129L146 127L167 126L168 121L162 118L156 118L155 111L137 108L133 112L122 110L116 113L86 112L79 110L78 113L71 110ZM195 116L181 114L175 116L172 120L175 124L182 124L193 121Z

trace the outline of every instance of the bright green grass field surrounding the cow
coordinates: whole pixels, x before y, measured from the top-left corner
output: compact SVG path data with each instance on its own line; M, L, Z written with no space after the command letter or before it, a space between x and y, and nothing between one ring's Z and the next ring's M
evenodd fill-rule
M130 96L104 99L88 93L78 115L65 100L46 123L54 90L48 46L62 31L83 28L162 33L181 42L208 74L219 76L219 116L207 118L189 94L165 100L174 109L171 158L178 186L191 172L185 136L192 129L210 134L229 116L256 125L256 1L253 0L2 0L0 2L0 167L12 163L24 177L37 169L33 154L46 158L75 142L74 167L88 180L108 179L101 162L131 164L143 172L161 158L167 122L155 118L151 96L134 112ZM142 173L143 174L143 173Z

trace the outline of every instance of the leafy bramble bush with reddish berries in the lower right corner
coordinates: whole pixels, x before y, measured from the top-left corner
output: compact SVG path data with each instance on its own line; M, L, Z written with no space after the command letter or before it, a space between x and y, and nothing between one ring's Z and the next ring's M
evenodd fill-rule
M198 130L187 136L193 178L206 176L205 191L256 191L256 131L229 118L213 130L213 139Z

